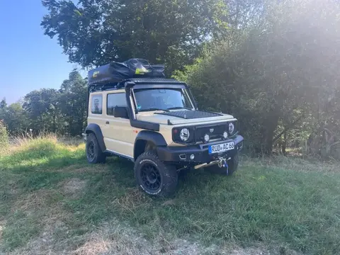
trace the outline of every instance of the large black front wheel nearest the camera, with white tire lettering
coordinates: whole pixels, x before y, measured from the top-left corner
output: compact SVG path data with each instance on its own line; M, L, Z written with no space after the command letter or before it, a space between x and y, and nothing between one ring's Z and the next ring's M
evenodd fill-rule
M176 191L176 167L164 164L152 151L140 154L135 162L137 185L152 196L169 197Z

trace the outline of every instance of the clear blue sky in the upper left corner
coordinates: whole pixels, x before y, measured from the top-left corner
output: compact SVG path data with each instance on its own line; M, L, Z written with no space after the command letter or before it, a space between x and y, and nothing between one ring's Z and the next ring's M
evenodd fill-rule
M56 38L44 35L45 13L40 0L0 0L0 100L13 103L34 89L57 89L78 67L67 62Z

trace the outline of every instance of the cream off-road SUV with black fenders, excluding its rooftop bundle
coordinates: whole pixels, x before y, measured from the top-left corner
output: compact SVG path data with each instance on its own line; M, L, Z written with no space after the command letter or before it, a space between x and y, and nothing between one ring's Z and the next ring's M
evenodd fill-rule
M89 163L105 162L110 155L129 159L135 163L137 185L154 196L174 193L179 171L206 167L231 175L237 170L244 138L232 115L198 111L181 81L137 77L97 82L100 72L89 72Z

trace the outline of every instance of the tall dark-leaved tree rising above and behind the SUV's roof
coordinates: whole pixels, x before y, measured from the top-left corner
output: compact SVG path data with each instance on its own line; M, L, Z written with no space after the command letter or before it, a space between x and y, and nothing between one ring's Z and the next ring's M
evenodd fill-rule
M140 57L178 69L227 33L222 0L42 0L41 26L82 67ZM176 60L176 62L173 62Z

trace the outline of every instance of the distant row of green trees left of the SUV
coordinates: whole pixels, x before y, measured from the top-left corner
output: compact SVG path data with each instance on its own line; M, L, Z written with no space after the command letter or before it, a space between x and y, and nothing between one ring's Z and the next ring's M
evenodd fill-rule
M73 70L60 90L40 89L28 93L22 103L0 103L0 120L8 131L21 134L33 131L81 135L86 123L86 81Z

